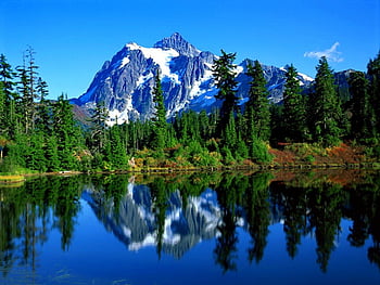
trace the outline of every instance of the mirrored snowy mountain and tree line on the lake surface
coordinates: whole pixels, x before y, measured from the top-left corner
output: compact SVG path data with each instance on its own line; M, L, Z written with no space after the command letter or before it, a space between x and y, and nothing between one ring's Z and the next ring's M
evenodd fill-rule
M315 238L315 260L327 272L337 241L367 249L380 269L380 176L344 173L193 173L166 177L49 177L0 189L0 269L36 268L37 246L52 230L68 250L85 200L106 231L127 250L155 246L180 259L202 241L214 239L213 258L223 272L239 259L259 263L269 228L283 224L286 248L294 259L303 237ZM342 219L352 221L342 236ZM239 234L250 235L246 256L238 256ZM42 247L43 248L43 247Z

